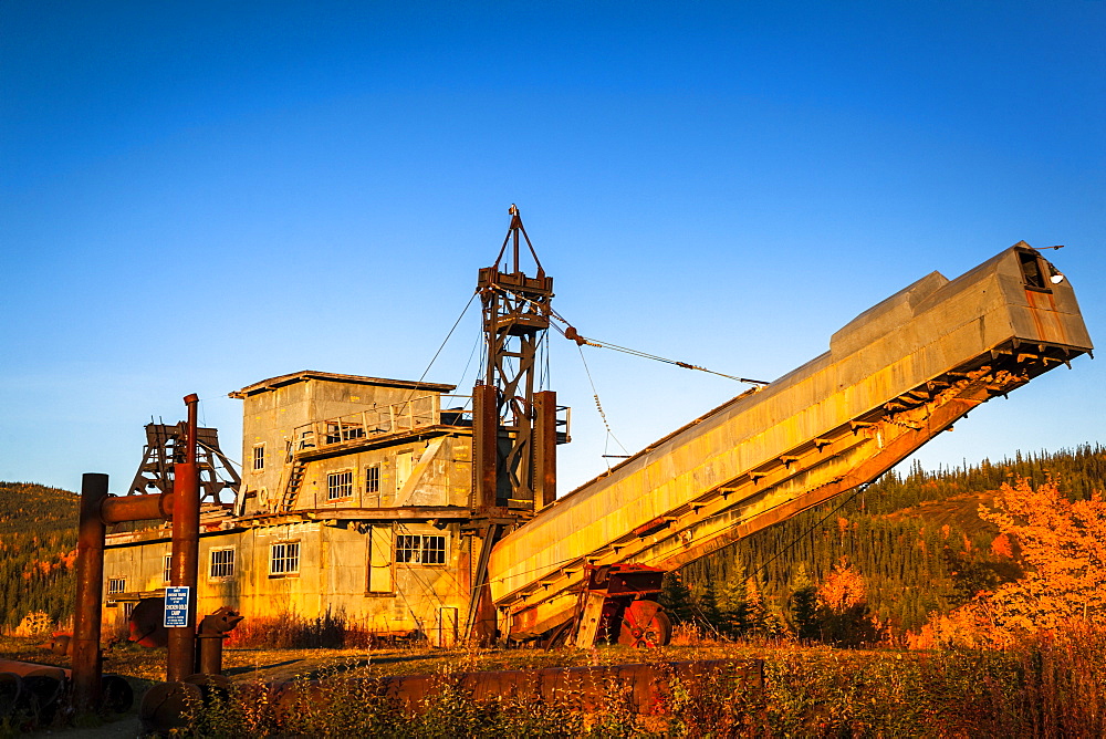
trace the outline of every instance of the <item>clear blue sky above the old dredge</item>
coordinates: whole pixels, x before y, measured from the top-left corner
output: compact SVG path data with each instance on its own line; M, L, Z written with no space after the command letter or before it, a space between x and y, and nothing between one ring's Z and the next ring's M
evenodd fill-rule
M1024 239L1106 320L1106 3L0 0L0 479L125 489L150 417L418 378L519 204L584 335L771 379ZM427 378L471 385L469 311ZM575 346L562 490L605 468ZM592 350L634 451L742 386ZM927 467L1106 441L1081 357ZM615 446L612 454L620 452Z

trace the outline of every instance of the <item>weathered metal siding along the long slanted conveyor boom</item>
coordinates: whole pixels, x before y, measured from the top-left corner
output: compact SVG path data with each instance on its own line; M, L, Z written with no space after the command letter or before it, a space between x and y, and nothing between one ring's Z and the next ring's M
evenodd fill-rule
M684 514L723 486L740 487L741 492L718 512L737 506L752 495L758 475L790 468L796 449L835 431L837 448L826 461L789 477L790 491L770 504L839 479L885 444L855 434L853 444L841 437L844 425L992 350L1018 342L1060 345L1073 353L1089 350L1071 285L1027 290L1016 252L1009 249L952 282L938 273L919 280L834 334L831 352L764 389L738 396L557 500L493 550L490 573L497 603L531 607L541 602L543 590L555 594L573 579L562 572L565 566L578 570L585 558L609 556L612 551L617 559L619 547L634 551L628 541L633 537L627 537L634 529ZM920 420L909 423L920 428ZM918 444L925 440L918 438ZM851 451L859 445L867 450ZM738 523L734 519L728 525ZM661 549L674 545L668 541ZM541 587L535 591L536 585ZM523 599L525 592L536 594ZM549 625L556 608L546 611L529 614L530 626Z

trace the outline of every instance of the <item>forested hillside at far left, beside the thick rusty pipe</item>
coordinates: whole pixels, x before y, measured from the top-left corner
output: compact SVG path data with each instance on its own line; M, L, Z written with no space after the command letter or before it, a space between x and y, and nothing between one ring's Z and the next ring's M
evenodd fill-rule
M67 490L0 481L0 625L4 629L35 611L54 621L73 613L79 501Z

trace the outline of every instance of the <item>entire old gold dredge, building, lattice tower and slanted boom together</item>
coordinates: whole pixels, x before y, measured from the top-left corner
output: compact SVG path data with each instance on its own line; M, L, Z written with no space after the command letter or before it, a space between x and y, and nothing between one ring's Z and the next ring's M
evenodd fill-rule
M539 362L553 281L517 209L478 294L487 364L468 395L323 372L231 394L244 469L227 483L232 502L212 493L201 511L199 614L341 613L441 646L664 643L665 571L874 480L987 399L1092 351L1071 284L1020 242L954 280L914 282L825 354L557 498L567 410ZM133 492L170 489L158 458L147 449ZM167 524L126 528L105 554L105 613L119 616L160 596L173 570Z

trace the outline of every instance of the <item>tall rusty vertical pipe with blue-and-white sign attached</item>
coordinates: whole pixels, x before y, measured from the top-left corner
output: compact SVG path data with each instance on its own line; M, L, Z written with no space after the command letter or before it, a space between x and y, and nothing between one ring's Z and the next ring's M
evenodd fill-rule
M188 625L169 631L169 656L166 681L179 681L196 672L196 584L200 549L200 486L196 467L196 406L199 397L185 397L188 407L188 431L185 461L173 472L173 566L169 584L187 586Z

